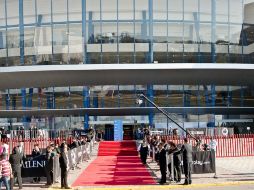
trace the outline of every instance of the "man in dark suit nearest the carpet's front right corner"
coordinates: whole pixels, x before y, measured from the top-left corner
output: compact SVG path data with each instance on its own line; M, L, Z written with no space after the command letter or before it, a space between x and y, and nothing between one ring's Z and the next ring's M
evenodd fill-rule
M167 157L166 157L166 150L164 148L164 144L159 144L159 165L161 171L161 181L160 184L166 183L166 175L167 175Z

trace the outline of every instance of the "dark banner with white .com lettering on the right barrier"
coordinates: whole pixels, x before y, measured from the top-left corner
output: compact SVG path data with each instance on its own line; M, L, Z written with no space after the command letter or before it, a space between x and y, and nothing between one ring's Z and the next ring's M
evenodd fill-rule
M192 173L215 173L215 152L199 151L192 153Z

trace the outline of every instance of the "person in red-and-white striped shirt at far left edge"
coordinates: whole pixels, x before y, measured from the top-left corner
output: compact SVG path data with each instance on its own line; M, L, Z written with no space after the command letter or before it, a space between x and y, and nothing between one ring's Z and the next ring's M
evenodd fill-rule
M10 162L7 160L7 154L1 155L0 161L1 168L1 179L0 179L0 189L2 189L2 183L5 185L6 190L10 190L10 179L12 175L12 169Z

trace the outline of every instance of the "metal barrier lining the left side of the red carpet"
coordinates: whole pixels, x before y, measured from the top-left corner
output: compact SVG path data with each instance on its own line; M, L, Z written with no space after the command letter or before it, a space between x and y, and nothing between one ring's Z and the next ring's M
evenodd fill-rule
M91 153L94 147L94 140L86 143L83 146L74 148L68 151L68 169L75 169L81 162L90 160ZM56 182L61 177L61 169L59 165L59 156L54 157L53 162L53 179Z

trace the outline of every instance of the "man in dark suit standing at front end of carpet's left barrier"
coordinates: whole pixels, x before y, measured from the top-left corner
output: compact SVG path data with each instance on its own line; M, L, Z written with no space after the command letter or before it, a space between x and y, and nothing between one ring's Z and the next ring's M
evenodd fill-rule
M67 183L68 174L68 157L67 157L68 147L65 143L61 145L61 153L59 157L59 164L61 168L61 188L71 189Z

